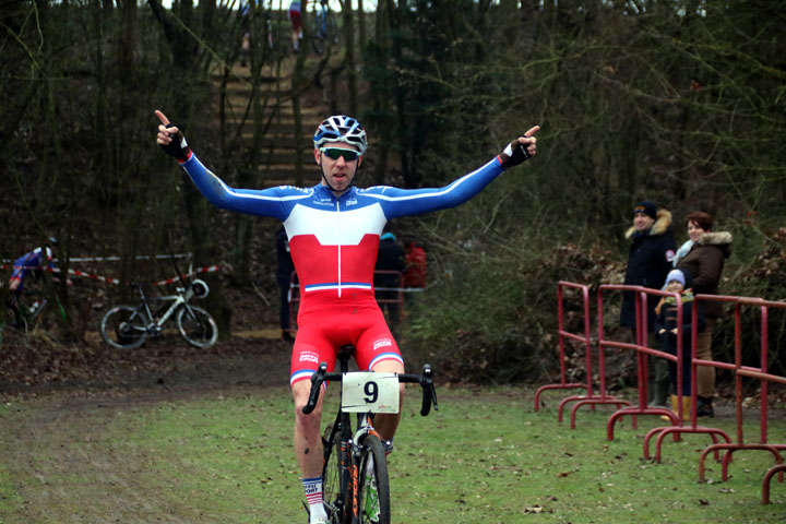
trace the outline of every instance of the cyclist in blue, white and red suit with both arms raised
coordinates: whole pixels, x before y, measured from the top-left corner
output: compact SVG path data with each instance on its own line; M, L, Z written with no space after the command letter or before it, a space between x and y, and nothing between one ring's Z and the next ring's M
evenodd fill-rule
M317 128L314 160L321 180L310 188L279 186L264 190L235 189L211 172L186 139L156 110L157 143L178 159L199 190L214 205L284 223L295 269L303 290L298 332L291 355L290 385L295 400L295 454L310 508L310 523L327 522L322 501L322 398L305 415L310 377L319 362L329 371L338 349L352 344L360 370L404 372L404 361L373 294L373 269L385 223L462 204L505 169L536 153L529 129L483 167L443 188L398 189L353 184L367 148L366 131L354 118L333 116ZM404 386L400 386L403 400ZM392 450L401 414L378 414L374 427Z

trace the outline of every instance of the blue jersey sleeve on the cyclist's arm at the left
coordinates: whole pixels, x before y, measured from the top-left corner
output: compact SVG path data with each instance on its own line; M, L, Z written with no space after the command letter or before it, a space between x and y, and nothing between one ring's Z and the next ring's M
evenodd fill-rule
M224 180L207 169L196 155L180 164L196 189L215 205L223 210L236 211L260 216L273 216L284 221L288 215L289 206L285 204L297 195L288 194L284 187L263 190L230 188ZM302 193L300 193L302 196Z

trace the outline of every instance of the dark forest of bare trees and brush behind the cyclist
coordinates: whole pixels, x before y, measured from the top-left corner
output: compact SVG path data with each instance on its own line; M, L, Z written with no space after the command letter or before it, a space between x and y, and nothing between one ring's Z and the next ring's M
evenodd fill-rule
M63 270L71 257L119 255L111 276L155 281L159 269L136 255L192 252L225 269L206 278L226 326L242 312L225 289L275 287L274 258L258 253L277 225L210 206L155 145L153 110L180 124L227 183L260 188L276 175L235 120L255 116L261 140L283 100L296 127L300 105L317 100L325 115L366 124L360 186L443 186L541 127L537 157L469 203L391 225L429 255L430 286L402 346L445 372L478 381L553 372L557 282L621 283L640 199L672 213L678 242L696 210L734 235L722 293L786 298L786 1L366 2L341 11L331 55L289 57L286 74L277 67L286 57L265 45L271 31L287 40L286 5L277 24L251 16L252 95L247 114L231 116L225 88L243 31L236 2L3 0L0 259L56 235ZM298 183L315 182L309 154L306 143ZM95 331L94 306L66 286L51 293L68 312L51 336L78 346ZM99 293L109 302L128 291ZM771 324L777 347L786 318ZM730 359L733 323L714 336ZM757 337L745 345L755 359ZM770 364L783 372L786 356L775 350Z

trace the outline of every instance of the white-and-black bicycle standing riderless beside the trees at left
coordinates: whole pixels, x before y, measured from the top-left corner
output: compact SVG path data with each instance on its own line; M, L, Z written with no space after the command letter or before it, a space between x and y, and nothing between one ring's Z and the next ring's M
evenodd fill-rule
M186 287L177 287L176 295L148 297L141 284L131 284L141 298L139 306L116 306L104 315L100 335L109 346L118 349L134 349L148 337L158 337L164 325L175 318L178 332L194 347L210 347L218 338L218 327L213 317L204 309L192 306L192 298L205 298L210 293L207 284L199 278ZM154 311L155 310L155 311Z

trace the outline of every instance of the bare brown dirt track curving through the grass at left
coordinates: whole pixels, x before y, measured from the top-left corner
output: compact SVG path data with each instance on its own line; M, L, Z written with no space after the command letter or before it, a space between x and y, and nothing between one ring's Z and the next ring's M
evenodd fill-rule
M136 485L134 479L150 471L146 457L108 440L105 429L118 424L119 413L159 402L210 391L258 395L261 388L286 386L289 350L266 338L233 338L203 353L150 345L82 381L15 384L14 394L5 389L0 393L0 445L7 471L0 468L0 476L26 478L34 471L37 483L19 487L22 500L0 493L0 523L203 522L166 490ZM155 365L147 359L156 359ZM97 484L108 487L99 499ZM4 517L9 502L21 503L24 516Z

